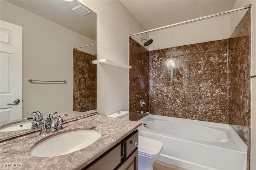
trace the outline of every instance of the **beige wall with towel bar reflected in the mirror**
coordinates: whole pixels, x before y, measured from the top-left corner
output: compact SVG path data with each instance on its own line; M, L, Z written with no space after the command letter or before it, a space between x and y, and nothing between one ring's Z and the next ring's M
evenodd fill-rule
M73 47L95 43L74 31L1 0L1 20L22 26L22 116L73 110ZM95 53L95 50L88 53ZM35 84L66 80L67 84Z

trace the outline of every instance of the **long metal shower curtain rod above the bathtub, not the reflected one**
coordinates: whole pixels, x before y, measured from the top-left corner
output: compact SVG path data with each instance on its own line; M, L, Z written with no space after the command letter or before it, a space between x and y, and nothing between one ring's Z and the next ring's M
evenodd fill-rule
M166 25L166 26L163 26L163 27L158 27L158 28L150 29L148 31L142 31L140 33L135 33L135 34L129 35L129 37L132 37L134 35L140 35L140 34L143 34L143 33L148 33L148 32L151 32L151 31L156 31L156 30L159 30L159 29L173 27L173 26L176 26L176 25L181 25L181 24L184 24L184 23L192 22L192 21L198 21L198 20L202 20L202 19L205 19L205 18L210 18L210 17L222 15L222 14L227 14L227 13L235 12L235 11L238 11L238 10L244 10L244 9L251 8L251 7L252 7L252 4L250 4L248 6L241 7L241 8L236 8L234 10L220 12L220 13L217 13L217 14L212 14L212 15L208 15L208 16L204 16L204 17L200 17L200 18L195 18L195 19L192 19L192 20L182 21L182 22L171 24L171 25Z

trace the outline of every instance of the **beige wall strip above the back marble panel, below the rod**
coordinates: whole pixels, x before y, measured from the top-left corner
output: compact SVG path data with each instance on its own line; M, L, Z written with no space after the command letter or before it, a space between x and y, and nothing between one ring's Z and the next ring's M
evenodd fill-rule
M149 33L155 43L150 51L178 47L195 43L228 39L230 37L229 15L217 16L205 20L186 23L168 29Z

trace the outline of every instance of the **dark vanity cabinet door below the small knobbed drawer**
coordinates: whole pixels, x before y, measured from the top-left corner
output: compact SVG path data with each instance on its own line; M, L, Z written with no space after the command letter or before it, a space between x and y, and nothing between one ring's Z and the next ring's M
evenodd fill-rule
M138 148L115 170L138 170Z

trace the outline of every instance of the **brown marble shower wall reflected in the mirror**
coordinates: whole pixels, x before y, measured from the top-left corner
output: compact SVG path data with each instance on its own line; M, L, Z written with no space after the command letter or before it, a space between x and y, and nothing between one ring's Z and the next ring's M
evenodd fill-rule
M73 51L73 110L96 109L96 56Z

